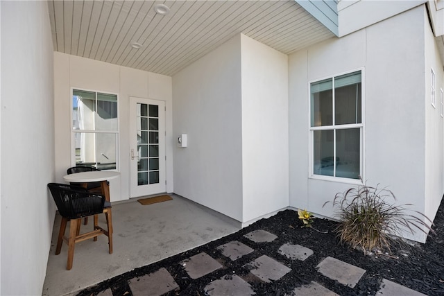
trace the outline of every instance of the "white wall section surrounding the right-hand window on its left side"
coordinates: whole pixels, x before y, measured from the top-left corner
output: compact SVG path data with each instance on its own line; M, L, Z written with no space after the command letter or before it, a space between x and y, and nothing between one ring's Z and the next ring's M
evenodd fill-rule
M289 157L291 207L332 216L322 207L350 184L309 179L309 81L364 67L366 35L334 38L289 56ZM365 99L365 98L364 98Z

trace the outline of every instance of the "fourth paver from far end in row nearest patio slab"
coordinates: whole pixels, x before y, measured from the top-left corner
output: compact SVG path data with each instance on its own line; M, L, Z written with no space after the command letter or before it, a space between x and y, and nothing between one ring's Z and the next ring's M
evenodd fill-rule
M171 277L165 268L160 268L160 270L149 275L144 275L143 277L130 279L128 284L134 296L159 296L179 288L176 281L174 281L173 277Z

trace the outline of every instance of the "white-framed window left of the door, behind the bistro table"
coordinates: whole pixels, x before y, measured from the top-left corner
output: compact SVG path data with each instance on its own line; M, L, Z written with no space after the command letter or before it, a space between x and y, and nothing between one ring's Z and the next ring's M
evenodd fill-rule
M117 95L73 89L72 132L76 165L117 168Z

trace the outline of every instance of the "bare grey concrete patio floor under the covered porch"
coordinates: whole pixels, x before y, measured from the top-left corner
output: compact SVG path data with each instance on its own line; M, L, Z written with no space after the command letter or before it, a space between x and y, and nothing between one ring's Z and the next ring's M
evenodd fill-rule
M237 232L240 223L178 195L173 200L142 205L134 198L112 204L113 249L108 238L99 236L76 244L74 264L66 270L67 244L55 255L60 216L56 216L42 295L76 295L94 284L123 272L160 261L169 256ZM105 225L99 215L99 225ZM81 229L89 230L88 225ZM67 232L69 229L67 229Z

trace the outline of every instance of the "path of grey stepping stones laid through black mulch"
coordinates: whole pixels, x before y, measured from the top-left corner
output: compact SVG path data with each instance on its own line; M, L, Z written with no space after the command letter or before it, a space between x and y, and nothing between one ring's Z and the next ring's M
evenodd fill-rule
M259 229L254 232L250 232L244 235L245 238L253 243L248 246L247 242L241 243L239 241L230 241L223 245L216 247L223 256L227 258L227 262L235 262L238 259L250 254L255 254L253 247L257 245L272 243L278 236ZM252 254L253 253L253 254ZM259 253L259 252L258 252ZM291 243L284 243L279 247L276 252L276 258L280 255L287 257L292 261L305 261L313 253L307 247L302 245L293 245ZM253 256L252 256L253 257ZM253 259L255 258L255 259ZM251 276L245 278L235 275L235 271L229 271L219 261L212 258L205 252L200 252L194 256L190 256L180 262L181 268L185 270L188 277L191 279L199 279L205 275L209 275L216 270L219 270L219 275L223 276L219 279L210 281L202 291L205 295L255 295L255 290L248 284L248 281L264 281L264 283L270 283L272 281L278 281L284 275L291 272L291 268L279 262L276 259L271 258L263 254L257 254L252 261L241 266L244 268L244 272L249 272ZM224 260L220 260L224 262ZM320 277L324 276L329 279L337 281L339 284L354 288L365 274L366 270L363 270L350 263L345 263L341 260L327 257L318 263L316 269L320 273ZM169 271L165 268L160 268L151 274L144 275L142 277L128 280L128 286L130 287L133 295L163 295L173 290L180 288L175 279L171 276ZM180 290L178 290L180 292ZM296 287L293 290L294 295L310 295L310 296L337 296L332 290L328 290L316 281L311 281L309 284ZM112 291L110 288L99 293L100 296L111 296ZM409 295L409 296L422 296L422 293L411 290L407 287L396 284L393 281L387 279L382 280L382 284L377 292L377 296L382 295Z

